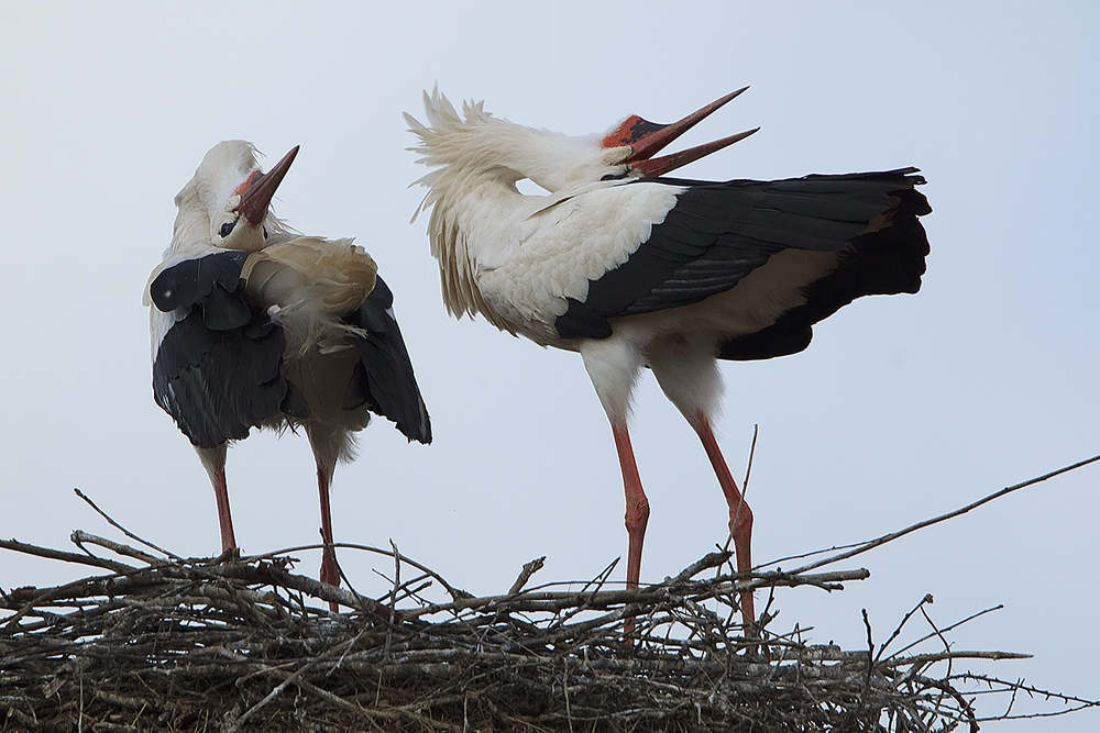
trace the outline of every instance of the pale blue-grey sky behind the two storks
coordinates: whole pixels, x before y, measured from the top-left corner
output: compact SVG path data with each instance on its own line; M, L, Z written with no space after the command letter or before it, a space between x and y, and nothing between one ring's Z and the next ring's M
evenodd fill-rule
M155 407L141 292L167 245L172 198L228 137L301 153L278 213L355 236L378 262L433 420L406 445L385 421L338 469L338 540L386 545L481 593L547 555L539 579L588 578L625 554L610 431L580 359L444 313L422 173L403 111L436 82L455 102L572 134L630 113L678 119L751 89L690 145L760 133L683 171L779 178L915 165L934 213L916 297L864 299L798 356L723 367L721 442L743 471L755 557L869 538L1100 453L1096 233L1100 10L1093 3L36 3L0 27L0 535L64 546L107 532L90 495L178 554L217 552L212 491ZM642 580L725 538L694 434L652 380L635 447L652 502ZM1028 652L990 668L1100 697L1094 609L1100 467L1082 469L845 567L871 579L780 596L773 626L864 643L925 593L959 648ZM304 438L256 436L229 458L246 552L317 537ZM371 557L341 554L361 590ZM318 558L302 571L316 575ZM387 564L378 565L383 571ZM619 570L622 579L625 570ZM3 554L0 586L69 567ZM988 712L994 712L988 709ZM1092 712L1004 730L1070 731ZM1002 729L997 729L1002 730Z

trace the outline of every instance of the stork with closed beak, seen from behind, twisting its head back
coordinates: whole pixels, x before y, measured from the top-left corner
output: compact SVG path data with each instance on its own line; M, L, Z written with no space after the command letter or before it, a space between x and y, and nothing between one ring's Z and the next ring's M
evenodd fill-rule
M431 424L393 293L352 240L301 236L270 212L295 147L267 173L243 141L219 143L176 196L172 244L150 276L153 395L210 476L222 551L237 548L226 447L252 427L301 426L317 463L320 579L339 586L329 485L371 412L409 441ZM334 609L334 604L333 609Z

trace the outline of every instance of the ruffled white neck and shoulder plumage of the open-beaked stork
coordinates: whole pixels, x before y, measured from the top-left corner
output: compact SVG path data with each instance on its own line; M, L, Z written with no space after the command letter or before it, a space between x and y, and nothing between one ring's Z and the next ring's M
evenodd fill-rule
M418 163L436 169L419 211L439 263L443 303L454 315L482 313L503 331L575 348L553 321L566 298L622 265L674 206L675 186L601 180L620 171L627 147L525 127L468 103L460 118L439 91L425 95L430 126L406 114L420 143ZM524 195L529 178L549 191ZM578 243L582 243L579 246Z

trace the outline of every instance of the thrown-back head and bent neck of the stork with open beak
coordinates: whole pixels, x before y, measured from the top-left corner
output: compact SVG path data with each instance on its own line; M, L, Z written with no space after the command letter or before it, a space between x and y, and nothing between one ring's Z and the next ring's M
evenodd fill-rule
M481 102L464 104L463 119L438 90L425 93L430 126L408 114L405 118L411 132L420 136L420 144L413 148L424 154L420 163L441 167L419 181L432 189L426 201L430 204L446 196L444 189L465 187L474 179L496 179L514 187L516 181L528 178L558 193L602 180L661 176L759 130L653 157L745 89L671 124L648 122L635 114L603 136L569 136L514 124L486 113Z

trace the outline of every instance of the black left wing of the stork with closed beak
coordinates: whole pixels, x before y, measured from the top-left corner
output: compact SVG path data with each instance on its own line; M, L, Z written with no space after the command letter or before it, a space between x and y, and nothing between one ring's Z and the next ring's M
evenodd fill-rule
M280 412L308 415L300 392L283 377L283 329L239 289L248 255L188 259L150 286L154 304L176 316L153 362L153 397L202 448L243 440Z

